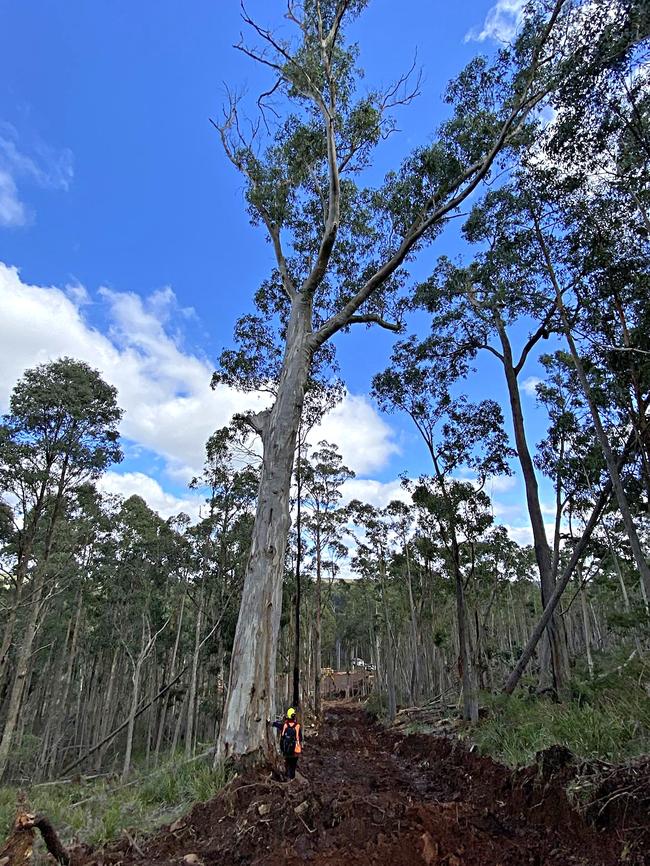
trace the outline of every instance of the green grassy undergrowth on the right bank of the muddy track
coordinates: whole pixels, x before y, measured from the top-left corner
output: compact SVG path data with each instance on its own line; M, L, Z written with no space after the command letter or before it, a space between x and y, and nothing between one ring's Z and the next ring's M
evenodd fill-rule
M488 695L486 717L466 732L481 754L510 766L530 764L555 744L583 760L621 762L650 753L650 668L638 662L623 671L609 663L593 680L577 674L570 699L519 692Z

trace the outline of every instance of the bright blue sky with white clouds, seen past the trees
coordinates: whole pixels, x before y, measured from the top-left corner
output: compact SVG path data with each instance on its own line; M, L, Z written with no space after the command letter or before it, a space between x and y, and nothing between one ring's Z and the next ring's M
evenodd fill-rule
M377 177L430 140L448 79L512 32L522 6L371 0L352 34L368 84L395 78L416 50L424 73L422 95L378 152ZM247 8L274 25L285 4ZM0 0L0 16L0 409L26 367L84 357L127 410L127 459L110 489L141 492L165 513L191 510L185 484L205 434L245 402L212 394L209 373L271 265L208 120L224 82L256 93L267 81L232 48L239 3ZM445 235L417 272L459 249ZM380 418L365 396L392 339L362 330L340 341L350 397L323 431L357 471L355 495L378 502L400 472L427 469L408 424ZM503 397L495 369L480 367L474 396ZM535 440L543 419L526 399ZM524 539L519 483L497 488L502 519Z

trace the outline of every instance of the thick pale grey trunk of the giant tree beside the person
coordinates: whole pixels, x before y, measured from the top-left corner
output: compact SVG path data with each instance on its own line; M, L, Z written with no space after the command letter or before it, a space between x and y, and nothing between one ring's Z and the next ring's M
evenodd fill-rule
M264 456L217 761L244 755L260 761L276 751L269 721L275 716L275 666L291 476L311 365L307 339L310 318L308 302L300 296L292 307L275 403L253 421L262 433Z

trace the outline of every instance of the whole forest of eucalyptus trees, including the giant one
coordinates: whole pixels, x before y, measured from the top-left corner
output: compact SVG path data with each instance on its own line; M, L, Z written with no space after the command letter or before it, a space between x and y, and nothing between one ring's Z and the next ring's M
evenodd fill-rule
M531 4L513 45L449 85L432 141L370 189L421 85L362 92L345 32L365 5L290 3L295 43L247 21L257 41L240 48L284 113L247 138L233 97L215 125L277 267L214 381L274 402L206 443L199 519L99 492L122 457L101 372L61 358L13 389L1 777L126 779L215 743L264 754L276 710L318 717L322 670L355 658L389 718L444 697L476 722L488 691L571 700L576 666L650 652L650 8ZM412 279L452 217L462 257ZM385 508L349 501L341 443L314 435L341 396L330 340L357 325L395 333L372 394L429 461ZM486 359L493 391L476 401ZM535 359L539 442L522 399ZM513 473L530 546L487 492Z

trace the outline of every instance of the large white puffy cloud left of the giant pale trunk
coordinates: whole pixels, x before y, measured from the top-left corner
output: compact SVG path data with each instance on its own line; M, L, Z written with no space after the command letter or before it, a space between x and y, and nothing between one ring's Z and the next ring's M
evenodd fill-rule
M28 367L62 355L79 358L118 389L123 435L163 456L175 477L189 478L201 468L208 436L234 412L260 408L263 397L225 386L211 390L213 365L181 351L166 332L158 318L160 293L149 302L108 289L100 297L111 322L108 335L85 321L80 303L87 297L78 287L71 297L56 287L27 285L15 268L0 263L0 405L7 406ZM167 297L171 304L173 293Z

